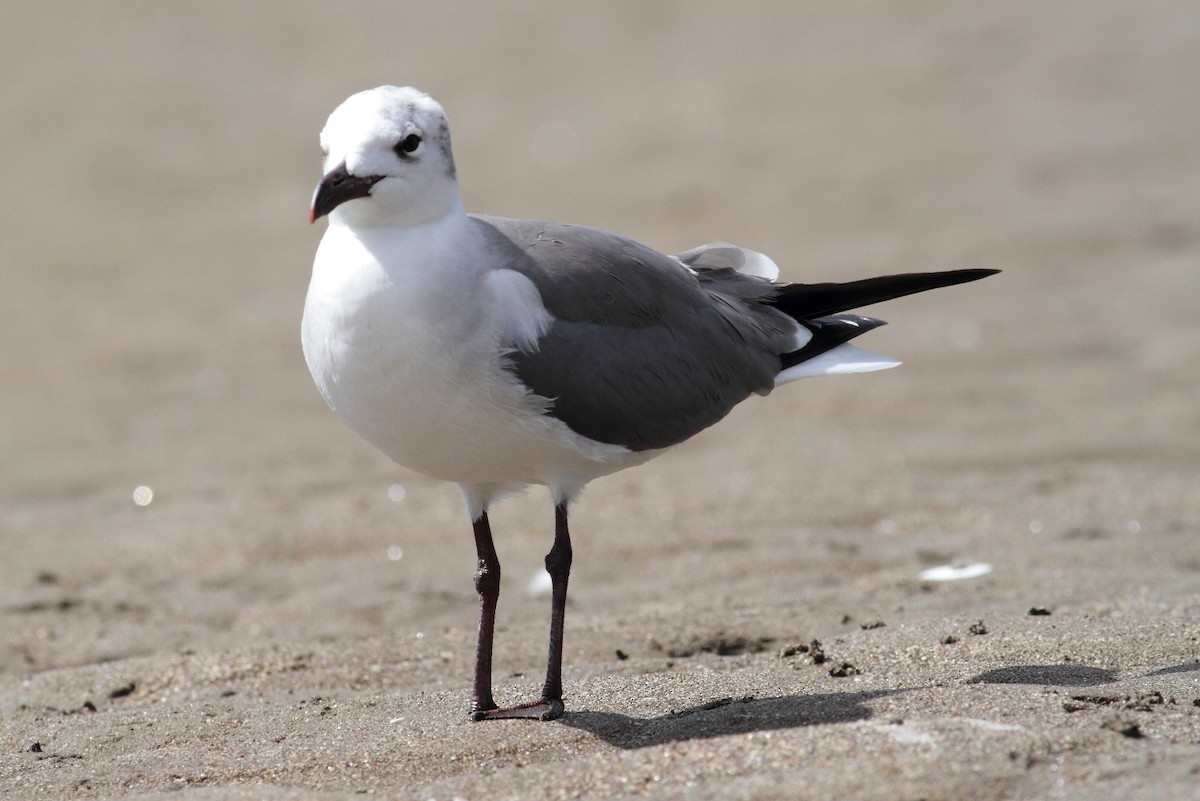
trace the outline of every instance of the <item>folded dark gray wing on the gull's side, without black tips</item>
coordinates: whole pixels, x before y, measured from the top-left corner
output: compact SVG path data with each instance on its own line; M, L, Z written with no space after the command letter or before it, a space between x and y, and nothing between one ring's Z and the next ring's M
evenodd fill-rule
M536 350L511 354L512 371L589 439L635 451L680 442L769 392L796 344L768 281L689 270L594 228L472 219L554 318Z

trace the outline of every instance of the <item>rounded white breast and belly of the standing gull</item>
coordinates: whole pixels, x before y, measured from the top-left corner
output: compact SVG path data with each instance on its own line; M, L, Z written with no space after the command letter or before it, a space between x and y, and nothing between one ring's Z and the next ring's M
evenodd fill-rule
M446 269L436 245L440 267L418 258L385 269L377 245L330 227L301 324L313 380L364 439L436 478L570 494L649 457L575 434L503 369L503 299L486 296L486 272Z

